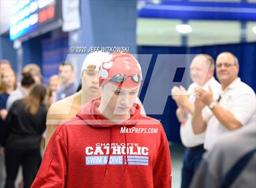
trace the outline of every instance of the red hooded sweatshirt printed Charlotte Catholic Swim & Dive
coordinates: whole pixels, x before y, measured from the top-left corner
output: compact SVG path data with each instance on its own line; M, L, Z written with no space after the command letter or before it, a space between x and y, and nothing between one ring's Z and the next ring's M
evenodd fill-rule
M171 187L171 156L162 124L134 104L121 124L98 111L100 98L52 135L32 188ZM127 163L126 163L127 161Z

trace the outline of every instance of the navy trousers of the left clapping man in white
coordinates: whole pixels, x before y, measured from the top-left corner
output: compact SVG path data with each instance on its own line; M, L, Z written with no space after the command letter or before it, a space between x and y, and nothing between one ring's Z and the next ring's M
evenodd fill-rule
M196 149L186 149L182 167L182 188L188 188L199 166L205 149L203 146Z

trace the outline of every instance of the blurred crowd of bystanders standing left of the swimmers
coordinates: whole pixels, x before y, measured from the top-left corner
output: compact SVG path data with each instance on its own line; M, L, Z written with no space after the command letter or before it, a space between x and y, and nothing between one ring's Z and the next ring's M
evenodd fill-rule
M51 76L48 87L42 78L37 64L27 64L18 82L10 61L0 60L0 187L14 186L20 165L18 186L30 187L41 163L47 111L77 90L71 63L59 65L59 75Z

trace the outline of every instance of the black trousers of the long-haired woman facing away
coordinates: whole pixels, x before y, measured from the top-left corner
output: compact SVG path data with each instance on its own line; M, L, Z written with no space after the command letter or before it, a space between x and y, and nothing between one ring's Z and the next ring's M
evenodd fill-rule
M38 163L40 159L40 149L6 149L5 150L5 166L6 166L6 182L5 188L13 188L18 173L19 166L23 167L24 188L29 188L38 171Z

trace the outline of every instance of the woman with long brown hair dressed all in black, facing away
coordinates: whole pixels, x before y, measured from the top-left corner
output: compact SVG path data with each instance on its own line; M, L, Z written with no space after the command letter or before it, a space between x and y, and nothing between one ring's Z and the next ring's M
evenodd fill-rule
M13 102L5 120L4 147L7 178L5 188L14 187L19 166L24 188L35 178L40 159L41 134L46 128L46 87L35 84L26 98Z

